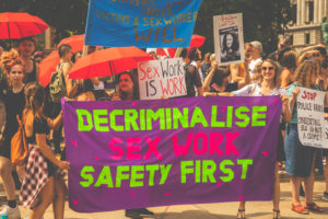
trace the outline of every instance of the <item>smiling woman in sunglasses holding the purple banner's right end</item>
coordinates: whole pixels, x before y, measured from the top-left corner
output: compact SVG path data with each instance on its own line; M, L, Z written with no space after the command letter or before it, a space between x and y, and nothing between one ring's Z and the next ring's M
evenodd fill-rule
M235 96L271 96L280 95L283 103L282 115L280 118L280 124L282 120L289 122L291 119L291 112L289 108L289 96L286 91L280 88L280 76L278 73L278 67L271 59L266 59L261 66L261 79L259 83L254 83L246 85L245 88L234 91ZM277 162L274 169L274 186L273 186L273 218L280 218L280 181L278 171L280 169L280 162L285 160L284 149L283 149L283 138L281 134L281 126L278 137L277 147ZM245 218L245 201L239 201L237 218Z

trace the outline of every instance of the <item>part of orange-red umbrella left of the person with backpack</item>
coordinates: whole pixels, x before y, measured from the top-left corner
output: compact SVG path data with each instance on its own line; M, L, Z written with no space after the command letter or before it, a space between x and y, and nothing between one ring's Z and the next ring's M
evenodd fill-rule
M56 71L56 67L59 64L60 58L57 50L54 50L49 54L42 62L39 64L39 77L38 82L43 87L47 87L51 79L51 73Z

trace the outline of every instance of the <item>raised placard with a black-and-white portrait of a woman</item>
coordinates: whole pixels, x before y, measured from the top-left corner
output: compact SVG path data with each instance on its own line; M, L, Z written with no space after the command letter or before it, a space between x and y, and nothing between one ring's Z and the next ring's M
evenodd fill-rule
M220 66L244 62L243 14L213 16L214 51Z

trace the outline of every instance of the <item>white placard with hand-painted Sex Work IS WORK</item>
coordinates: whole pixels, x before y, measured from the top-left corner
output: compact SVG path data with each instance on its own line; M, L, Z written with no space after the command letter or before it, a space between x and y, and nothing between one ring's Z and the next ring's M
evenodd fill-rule
M181 58L142 61L138 64L140 100L157 100L187 94Z

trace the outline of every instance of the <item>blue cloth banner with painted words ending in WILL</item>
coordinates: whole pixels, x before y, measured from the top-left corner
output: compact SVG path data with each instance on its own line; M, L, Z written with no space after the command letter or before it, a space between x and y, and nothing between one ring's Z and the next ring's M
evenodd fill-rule
M202 0L90 0L85 45L189 47Z

